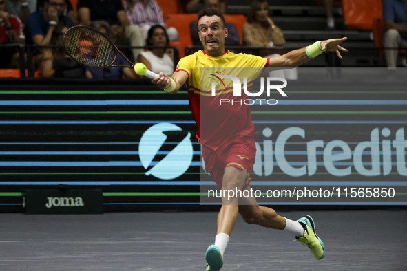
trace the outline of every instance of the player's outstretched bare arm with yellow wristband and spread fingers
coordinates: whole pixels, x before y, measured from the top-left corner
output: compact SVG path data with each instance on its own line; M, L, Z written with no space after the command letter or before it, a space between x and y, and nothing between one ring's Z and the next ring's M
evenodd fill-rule
M314 43L306 48L293 50L282 56L270 58L269 67L298 67L324 51L336 52L337 56L342 59L340 51L348 52L348 50L340 46L340 43L343 43L346 39L348 38L328 39Z

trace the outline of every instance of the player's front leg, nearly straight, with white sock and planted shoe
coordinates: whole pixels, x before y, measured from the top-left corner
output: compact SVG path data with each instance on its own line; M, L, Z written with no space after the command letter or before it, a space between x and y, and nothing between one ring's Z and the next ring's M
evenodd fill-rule
M218 214L218 230L215 237L215 244L209 246L205 259L207 260L207 270L220 270L223 265L223 254L229 237L239 216L239 198L247 179L246 169L237 169L229 166L225 169L222 179L222 191L225 196L222 197L222 208Z

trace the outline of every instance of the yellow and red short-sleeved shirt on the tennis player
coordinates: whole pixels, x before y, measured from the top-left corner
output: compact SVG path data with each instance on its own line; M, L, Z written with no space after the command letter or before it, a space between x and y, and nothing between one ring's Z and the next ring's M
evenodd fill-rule
M239 142L242 136L254 135L250 107L244 105L248 96L242 87L246 78L250 91L253 80L260 76L267 65L269 58L233 54L228 50L217 57L209 56L202 50L179 61L176 72L185 71L189 76L185 83L189 106L198 125L196 137L204 147L216 151L222 144ZM233 96L233 81L222 78L223 75L240 79L242 96ZM215 96L212 87L216 87Z

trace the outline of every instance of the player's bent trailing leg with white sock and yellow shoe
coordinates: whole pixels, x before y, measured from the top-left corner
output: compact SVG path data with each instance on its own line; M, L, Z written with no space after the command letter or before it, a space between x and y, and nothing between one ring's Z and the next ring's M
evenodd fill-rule
M295 236L295 241L309 247L316 259L324 258L324 243L317 236L315 223L309 215L293 221L281 217L272 208L259 206L254 197L242 197L239 204L239 213L247 223L290 232Z

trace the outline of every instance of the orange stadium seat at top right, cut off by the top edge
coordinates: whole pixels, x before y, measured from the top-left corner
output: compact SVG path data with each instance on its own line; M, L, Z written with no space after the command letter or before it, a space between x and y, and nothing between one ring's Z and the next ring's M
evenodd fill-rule
M382 17L381 0L342 0L342 9L349 30L373 30L373 19Z

